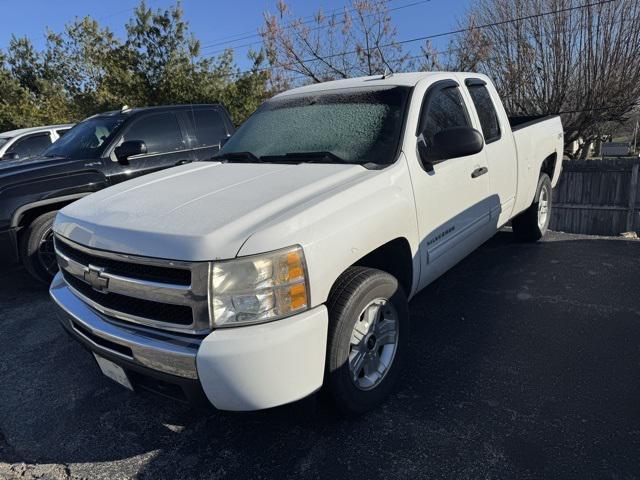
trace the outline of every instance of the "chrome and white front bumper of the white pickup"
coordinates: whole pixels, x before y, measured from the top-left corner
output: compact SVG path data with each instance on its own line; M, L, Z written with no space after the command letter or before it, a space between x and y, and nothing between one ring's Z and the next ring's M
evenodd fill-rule
M64 328L85 347L127 372L178 386L192 403L206 395L221 410L260 410L304 398L322 385L324 305L271 323L218 329L202 339L106 317L76 297L60 273L50 295Z

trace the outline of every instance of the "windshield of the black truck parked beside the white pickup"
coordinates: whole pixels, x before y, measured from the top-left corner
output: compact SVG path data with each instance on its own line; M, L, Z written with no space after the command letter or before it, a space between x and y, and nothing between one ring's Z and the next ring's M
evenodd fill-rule
M44 151L45 157L98 158L124 122L123 115L92 117L69 130Z

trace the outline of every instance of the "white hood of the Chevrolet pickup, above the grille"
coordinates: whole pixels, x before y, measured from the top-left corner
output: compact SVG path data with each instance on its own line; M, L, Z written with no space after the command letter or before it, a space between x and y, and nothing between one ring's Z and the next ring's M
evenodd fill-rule
M59 212L54 229L82 245L131 255L233 258L289 209L372 173L359 165L193 163L85 197Z

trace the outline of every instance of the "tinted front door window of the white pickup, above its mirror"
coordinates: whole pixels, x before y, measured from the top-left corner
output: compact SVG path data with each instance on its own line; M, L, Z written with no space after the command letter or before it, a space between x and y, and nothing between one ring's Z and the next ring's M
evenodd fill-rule
M436 133L447 128L468 126L467 109L457 87L443 88L430 94L420 119L420 132L424 134L427 147L432 145Z

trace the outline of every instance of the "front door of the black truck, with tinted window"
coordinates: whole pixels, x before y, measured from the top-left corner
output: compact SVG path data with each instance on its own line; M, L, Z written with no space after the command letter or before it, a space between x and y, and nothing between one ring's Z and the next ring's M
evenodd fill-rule
M147 113L132 119L131 124L124 127L116 145L131 140L143 141L147 146L147 153L130 157L128 162L122 164L117 161L112 148L111 161L108 162L111 183L193 160L183 127L171 111Z

